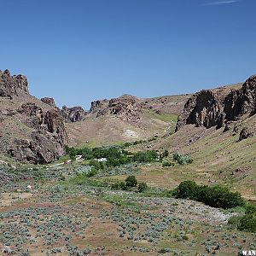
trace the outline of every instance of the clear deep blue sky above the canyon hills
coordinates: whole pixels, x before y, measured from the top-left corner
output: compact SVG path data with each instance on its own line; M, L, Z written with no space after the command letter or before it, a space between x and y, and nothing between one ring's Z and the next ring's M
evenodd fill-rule
M256 73L256 0L0 0L0 69L58 106Z

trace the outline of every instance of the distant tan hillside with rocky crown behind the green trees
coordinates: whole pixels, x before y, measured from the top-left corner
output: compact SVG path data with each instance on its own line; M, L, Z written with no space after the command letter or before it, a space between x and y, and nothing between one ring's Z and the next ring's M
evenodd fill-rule
M69 123L69 145L81 146L136 141L147 137L162 137L173 132L177 115L189 96L163 96L139 99L120 96L95 101L84 119Z

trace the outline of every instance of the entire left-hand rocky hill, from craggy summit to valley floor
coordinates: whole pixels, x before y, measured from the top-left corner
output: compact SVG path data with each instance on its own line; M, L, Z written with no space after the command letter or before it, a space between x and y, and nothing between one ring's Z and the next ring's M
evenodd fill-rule
M67 133L54 101L30 96L25 76L5 71L0 78L0 152L34 164L64 154Z

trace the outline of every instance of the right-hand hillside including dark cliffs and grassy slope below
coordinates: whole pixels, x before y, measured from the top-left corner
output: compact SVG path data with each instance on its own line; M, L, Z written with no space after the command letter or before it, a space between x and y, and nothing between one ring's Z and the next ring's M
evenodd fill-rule
M137 146L135 150L178 150L194 160L188 166L169 167L166 171L154 166L154 172L162 172L158 182L152 182L154 185L170 188L182 180L194 179L199 183L228 185L256 200L255 80L253 76L236 89L196 93L186 102L176 133ZM151 172L143 179L149 182Z

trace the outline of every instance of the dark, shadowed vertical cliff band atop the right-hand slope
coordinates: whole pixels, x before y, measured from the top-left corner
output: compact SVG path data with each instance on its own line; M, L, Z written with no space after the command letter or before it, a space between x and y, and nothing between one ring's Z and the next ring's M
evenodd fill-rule
M256 113L256 76L252 76L240 90L201 90L186 102L177 119L176 131L183 125L195 124L220 128L226 121L239 119L241 115Z

